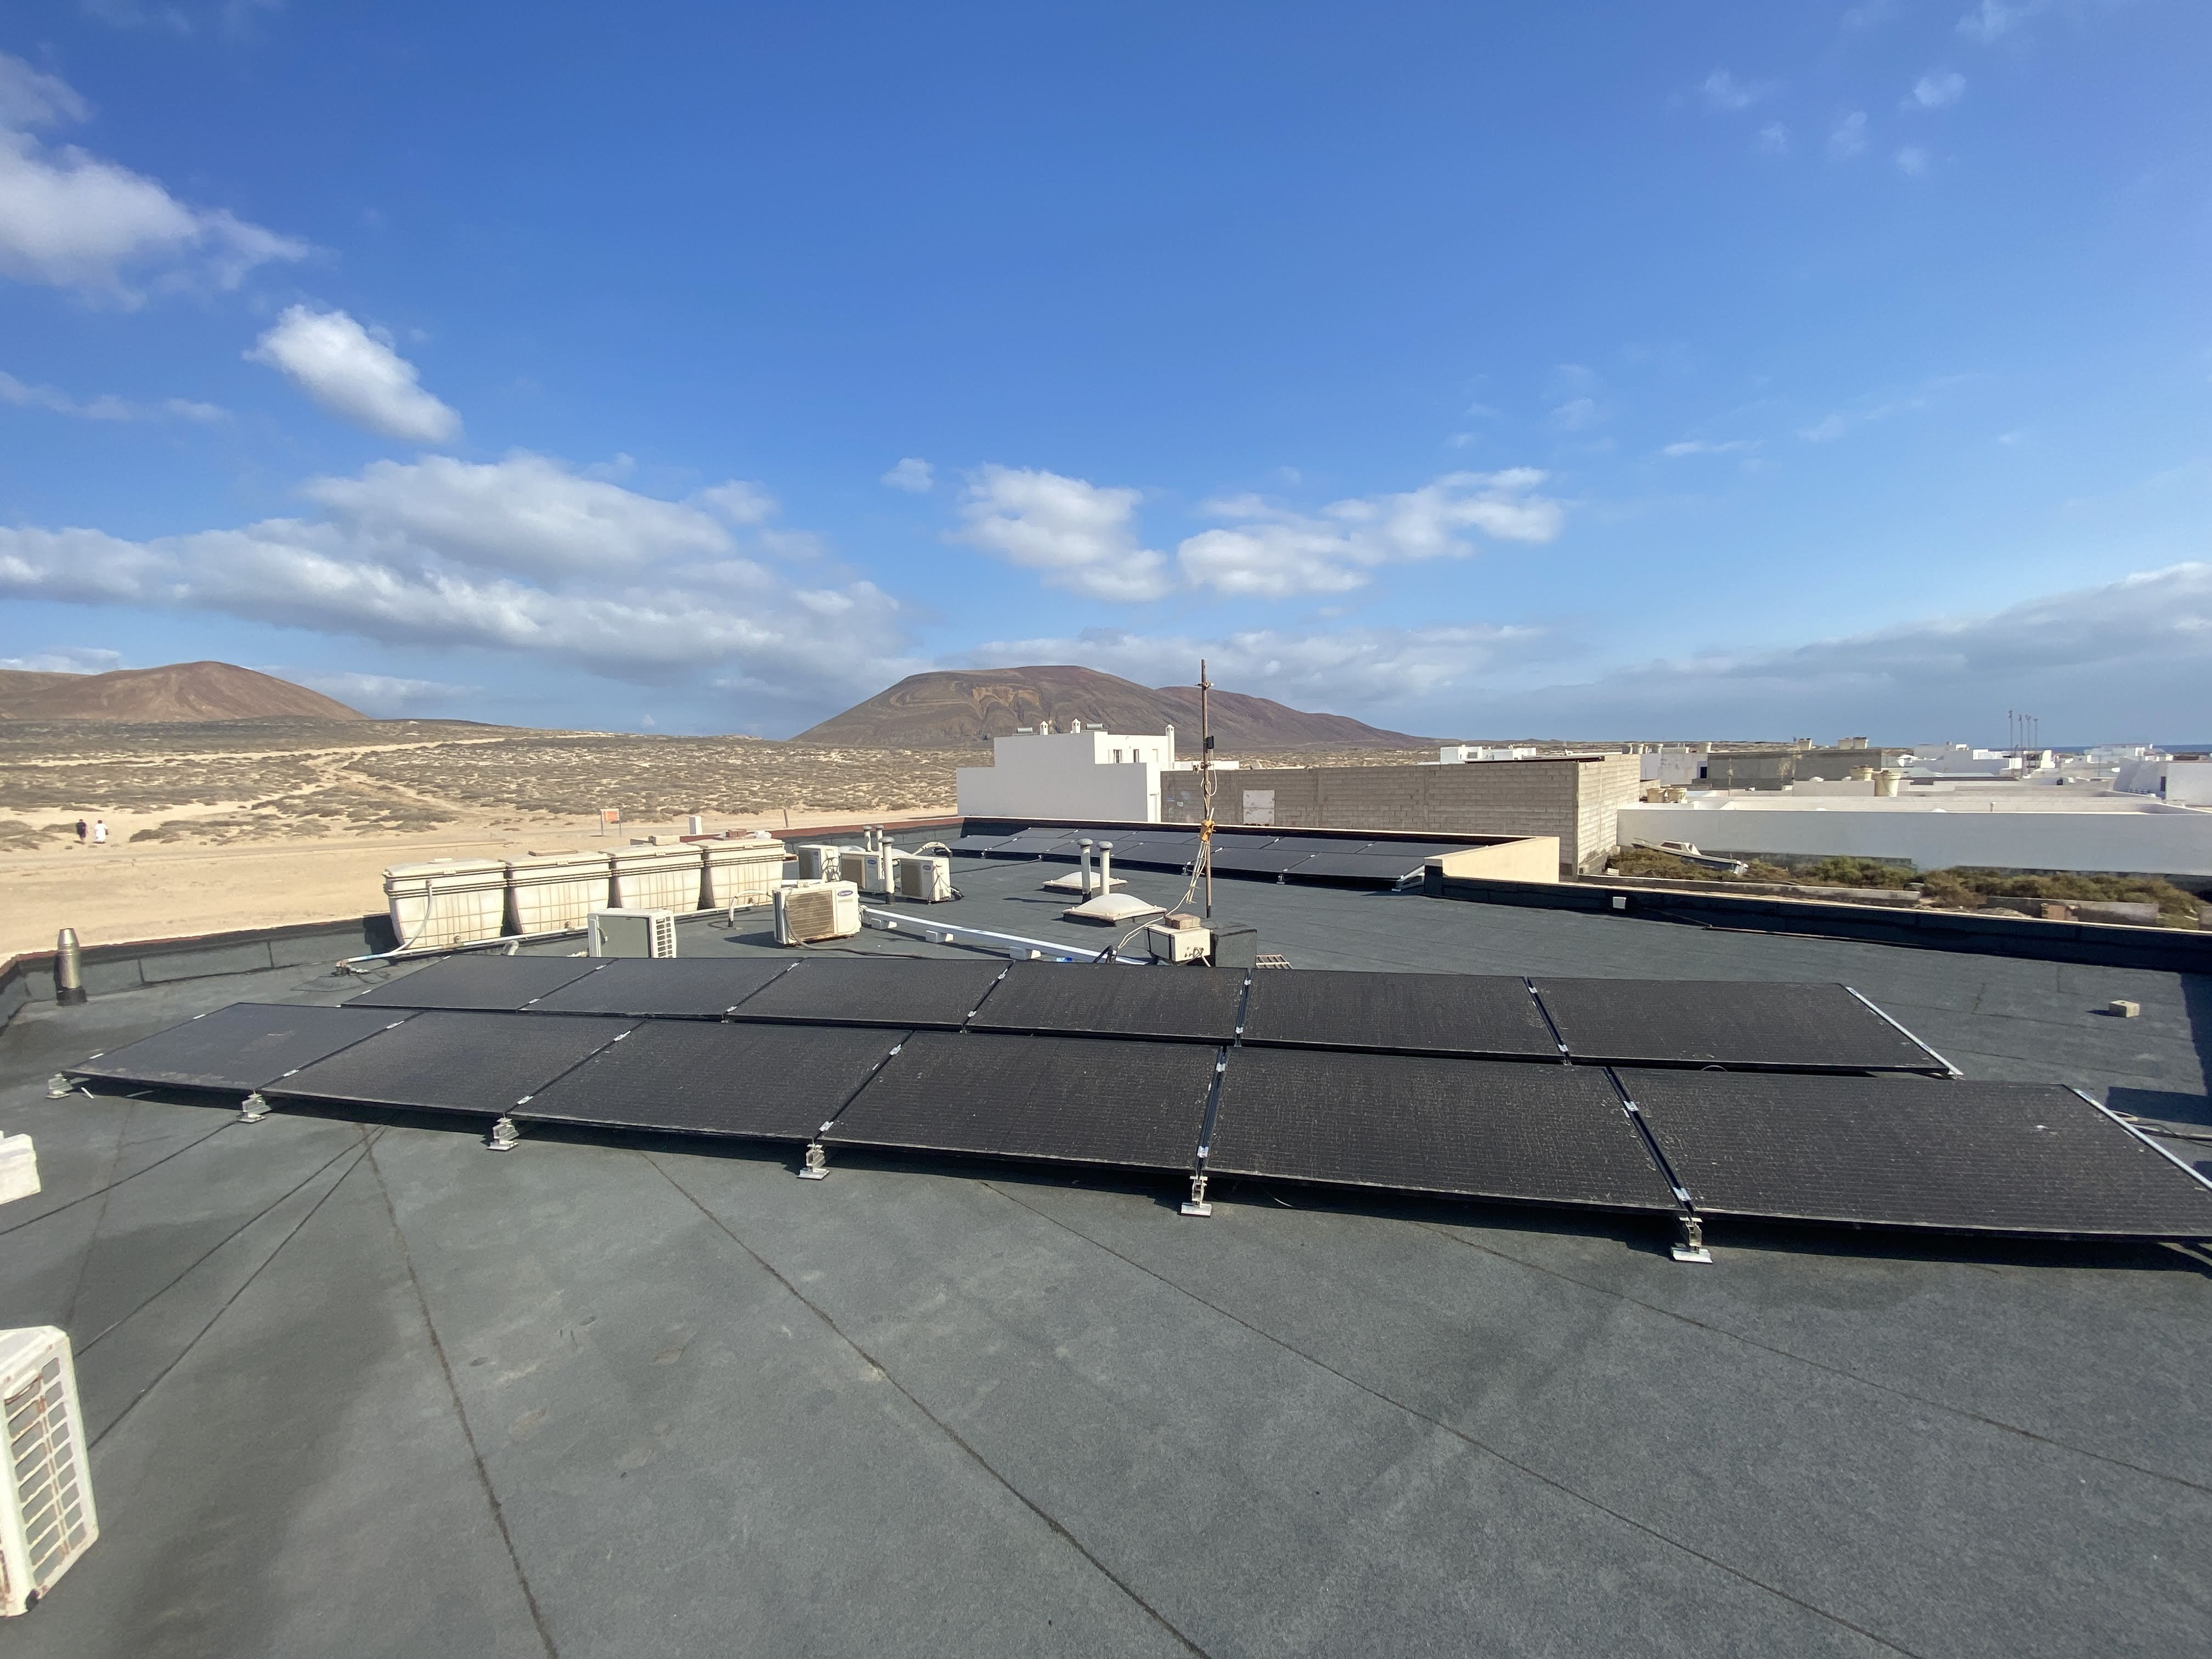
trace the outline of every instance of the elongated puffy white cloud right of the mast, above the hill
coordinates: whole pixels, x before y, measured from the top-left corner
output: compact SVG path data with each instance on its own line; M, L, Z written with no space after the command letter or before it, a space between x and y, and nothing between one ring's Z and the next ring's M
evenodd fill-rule
M1467 557L1467 531L1504 542L1551 542L1559 502L1537 495L1544 473L1444 473L1398 495L1332 502L1318 513L1276 507L1259 495L1208 502L1232 529L1201 531L1177 549L1192 586L1223 595L1281 599L1296 593L1349 593L1380 564Z

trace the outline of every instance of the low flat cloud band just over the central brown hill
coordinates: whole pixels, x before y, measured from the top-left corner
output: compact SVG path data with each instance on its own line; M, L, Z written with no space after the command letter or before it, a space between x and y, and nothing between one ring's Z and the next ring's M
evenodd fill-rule
M1199 657L1217 686L1276 701L1345 710L1389 708L1471 690L1475 681L1548 646L1540 628L1444 624L1281 633L1250 628L1214 637L1091 628L1057 639L998 639L962 653L971 666L1071 661L1144 686L1190 686Z

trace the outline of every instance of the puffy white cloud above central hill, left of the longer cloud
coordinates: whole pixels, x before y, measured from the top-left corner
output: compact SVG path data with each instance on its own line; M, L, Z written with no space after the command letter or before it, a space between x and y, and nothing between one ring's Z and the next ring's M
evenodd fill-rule
M1157 599L1175 577L1166 555L1137 544L1137 500L1135 489L1084 478L978 467L960 495L956 540L1091 599Z

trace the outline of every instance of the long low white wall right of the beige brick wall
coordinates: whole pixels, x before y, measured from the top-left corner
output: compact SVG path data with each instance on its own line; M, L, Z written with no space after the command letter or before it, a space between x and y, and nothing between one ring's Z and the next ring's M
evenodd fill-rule
M2205 763L2212 772L2212 763ZM1920 869L2132 869L2212 876L2212 812L1978 812L1880 801L1807 807L1632 805L1621 807L1621 841L1688 841L1705 852L1798 854L1825 858L1911 858Z

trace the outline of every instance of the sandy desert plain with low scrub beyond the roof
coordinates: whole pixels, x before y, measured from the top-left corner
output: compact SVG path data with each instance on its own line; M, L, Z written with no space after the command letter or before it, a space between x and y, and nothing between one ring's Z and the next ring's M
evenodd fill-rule
M1425 752L1422 752L1425 754ZM0 956L363 916L387 865L953 807L969 750L535 732L458 721L0 721ZM1360 765L1416 754L1239 757ZM599 832L615 807L622 827ZM106 847L80 847L104 818Z

